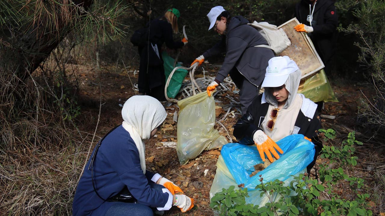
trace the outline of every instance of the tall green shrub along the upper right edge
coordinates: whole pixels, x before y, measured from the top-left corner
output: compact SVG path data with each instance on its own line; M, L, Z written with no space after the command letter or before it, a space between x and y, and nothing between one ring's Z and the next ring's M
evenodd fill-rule
M358 62L362 73L367 76L375 94L363 91L359 116L368 130L383 135L385 132L385 1L342 0L336 7L345 20L338 30L354 33L354 45L360 50ZM373 96L372 96L373 95Z

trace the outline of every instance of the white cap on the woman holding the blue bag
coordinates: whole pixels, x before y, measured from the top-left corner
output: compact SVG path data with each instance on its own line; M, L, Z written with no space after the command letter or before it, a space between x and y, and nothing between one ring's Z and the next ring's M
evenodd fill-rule
M262 87L278 87L285 84L290 73L298 70L295 61L289 56L276 56L269 60L269 65L266 68L265 78Z

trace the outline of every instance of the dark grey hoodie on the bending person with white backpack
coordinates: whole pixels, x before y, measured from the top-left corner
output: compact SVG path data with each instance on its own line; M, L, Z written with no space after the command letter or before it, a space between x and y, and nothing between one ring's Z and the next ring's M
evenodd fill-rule
M261 44L268 45L268 43L258 30L247 23L249 21L242 16L232 17L226 30L226 37L203 53L204 58L208 58L226 49L226 57L216 80L223 82L230 71L236 67L254 85L259 86L262 83L268 61L275 55L269 48L254 47Z

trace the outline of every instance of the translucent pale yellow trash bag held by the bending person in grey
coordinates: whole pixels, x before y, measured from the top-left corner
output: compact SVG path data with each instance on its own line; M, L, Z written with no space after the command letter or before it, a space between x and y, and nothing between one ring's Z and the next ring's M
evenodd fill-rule
M181 164L196 158L203 150L219 148L228 143L215 125L215 102L204 91L178 102L176 153Z

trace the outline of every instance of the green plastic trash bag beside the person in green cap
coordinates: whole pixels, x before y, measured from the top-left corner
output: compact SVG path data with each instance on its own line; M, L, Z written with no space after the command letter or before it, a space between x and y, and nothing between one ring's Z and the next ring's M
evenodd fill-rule
M162 58L163 58L163 67L164 67L164 75L166 76L166 83L167 78L170 76L170 73L172 70L174 70L174 59L171 58L167 52L162 52ZM175 67L180 67L181 65L179 63L176 63ZM188 71L184 69L178 69L174 72L172 75L172 78L170 80L169 85L167 86L167 97L169 98L175 98L175 96L178 94L179 90L181 89L182 82L184 80L184 77L187 75Z

